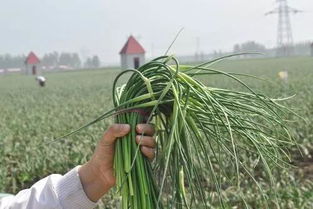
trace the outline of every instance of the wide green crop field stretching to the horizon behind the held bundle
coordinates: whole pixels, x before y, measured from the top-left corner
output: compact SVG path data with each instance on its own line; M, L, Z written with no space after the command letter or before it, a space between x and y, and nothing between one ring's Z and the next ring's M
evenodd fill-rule
M241 77L250 87L271 97L295 95L284 102L303 117L288 117L291 133L299 144L291 150L290 163L294 167L288 171L273 169L277 196L273 195L262 170L256 169L255 175L265 185L270 208L312 208L313 58L228 60L216 68L269 80ZM280 71L288 71L288 82L278 78ZM99 122L62 141L53 139L112 107L112 81L119 72L104 69L49 73L45 75L45 88L39 88L34 77L0 76L0 192L16 193L51 173L64 173L86 162L112 120ZM221 76L199 79L214 87L242 89ZM252 166L249 156L242 153L242 157L251 160ZM243 208L244 203L231 187L226 185L223 190L229 207ZM249 207L265 208L262 196L250 180L243 183L242 194ZM116 207L113 196L112 193L104 199L106 208ZM208 196L215 200L213 191L208 191ZM214 201L212 204L215 205Z

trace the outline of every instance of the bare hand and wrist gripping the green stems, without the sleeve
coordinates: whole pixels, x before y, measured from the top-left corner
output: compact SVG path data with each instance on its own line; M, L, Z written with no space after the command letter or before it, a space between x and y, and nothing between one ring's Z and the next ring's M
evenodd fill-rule
M96 150L86 164L82 165L79 170L79 177L87 197L97 202L106 194L114 185L114 152L115 142L119 137L127 135L130 131L128 124L114 124L103 135L102 140L98 143ZM136 126L138 135L136 136L137 144L141 145L141 152L150 160L155 156L154 128L149 124L138 124ZM141 137L144 133L145 136ZM141 138L141 141L140 141Z

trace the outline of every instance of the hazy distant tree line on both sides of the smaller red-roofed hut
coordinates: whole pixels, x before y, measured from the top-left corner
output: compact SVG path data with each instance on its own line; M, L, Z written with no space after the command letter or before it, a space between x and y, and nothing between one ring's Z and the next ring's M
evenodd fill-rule
M26 56L17 55L13 56L10 54L0 55L0 69L6 68L22 68L24 67ZM60 67L68 68L99 68L100 67L100 58L97 55L88 57L84 62L81 61L81 58L77 53L58 53L51 52L44 54L40 59L41 65L48 69L56 69Z

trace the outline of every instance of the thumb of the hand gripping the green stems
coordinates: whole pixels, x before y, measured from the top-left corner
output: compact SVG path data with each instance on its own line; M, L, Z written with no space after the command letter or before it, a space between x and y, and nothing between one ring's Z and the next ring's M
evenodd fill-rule
M101 142L104 145L111 145L115 142L116 138L125 136L130 131L128 124L114 124L104 133Z

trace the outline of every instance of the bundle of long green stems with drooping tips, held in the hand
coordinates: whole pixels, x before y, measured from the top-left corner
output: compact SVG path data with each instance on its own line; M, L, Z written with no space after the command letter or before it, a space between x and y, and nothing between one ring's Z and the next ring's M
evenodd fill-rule
M272 184L271 168L287 165L286 148L294 142L283 115L291 110L239 79L248 75L214 69L220 60L191 66L161 56L117 76L114 108L86 126L110 116L131 125L126 139L117 141L114 162L123 209L211 208L212 190L224 207L222 184L234 186L244 199L240 185L243 176L249 176L263 191L242 153L257 160ZM126 84L118 87L120 77L128 73ZM209 87L197 80L211 75L230 78L246 91ZM138 123L155 124L154 162L136 144Z

